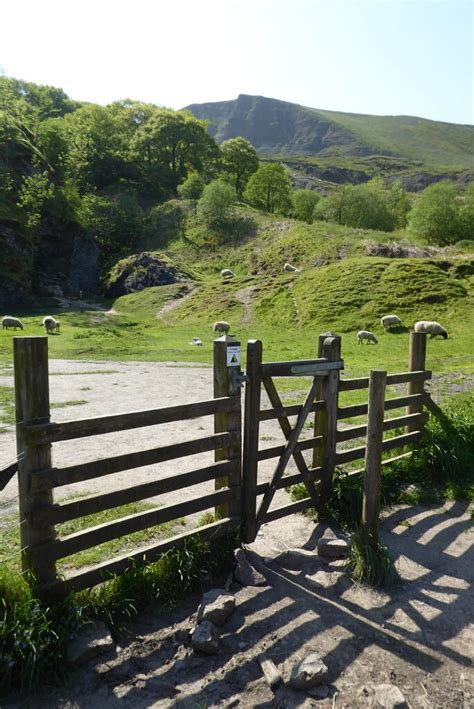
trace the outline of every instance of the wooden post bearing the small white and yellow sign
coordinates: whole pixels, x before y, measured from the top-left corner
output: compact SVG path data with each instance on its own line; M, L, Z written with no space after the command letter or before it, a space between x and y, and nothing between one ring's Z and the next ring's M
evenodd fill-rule
M231 348L230 352L229 348ZM235 360L235 361L231 361ZM238 396L240 398L240 342L234 340L229 335L214 340L214 398L223 396ZM239 461L237 472L231 476L216 479L216 490L222 487L241 487L242 477L242 414L240 409L235 412L214 414L214 433L224 431L234 431L238 440L233 446L228 448L218 448L214 454L214 460L235 460ZM241 503L232 500L230 503L220 505L215 508L215 513L221 517L234 517L241 515Z

